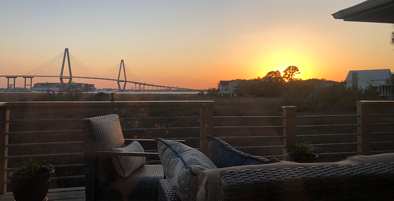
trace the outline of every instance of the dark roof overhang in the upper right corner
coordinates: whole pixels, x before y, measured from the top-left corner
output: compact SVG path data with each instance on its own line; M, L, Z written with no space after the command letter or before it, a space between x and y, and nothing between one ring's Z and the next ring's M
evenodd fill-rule
M394 0L366 0L332 16L343 21L394 24Z

